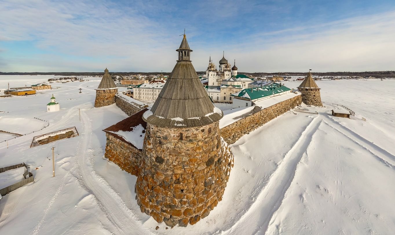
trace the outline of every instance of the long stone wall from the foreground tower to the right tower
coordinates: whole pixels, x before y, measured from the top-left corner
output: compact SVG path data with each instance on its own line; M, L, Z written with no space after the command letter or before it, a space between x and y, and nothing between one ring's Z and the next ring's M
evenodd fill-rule
M222 127L220 130L221 136L228 144L233 144L245 134L254 131L270 120L280 116L281 114L284 114L295 106L301 104L301 102L302 97L301 95L298 95L286 101L282 101L278 104L262 109L255 114L240 119L226 127Z

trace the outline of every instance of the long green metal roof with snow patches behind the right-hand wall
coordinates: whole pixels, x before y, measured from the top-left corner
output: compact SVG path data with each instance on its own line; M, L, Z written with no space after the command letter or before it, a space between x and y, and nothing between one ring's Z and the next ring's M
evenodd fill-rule
M273 86L262 86L257 88L247 88L237 93L232 94L234 97L243 97L250 100L260 99L269 95L274 95L291 89L286 86L280 86L278 83L273 83Z

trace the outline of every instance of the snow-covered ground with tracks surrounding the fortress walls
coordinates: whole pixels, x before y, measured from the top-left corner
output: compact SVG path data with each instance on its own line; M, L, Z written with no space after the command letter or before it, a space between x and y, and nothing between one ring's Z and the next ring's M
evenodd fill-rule
M0 76L0 89L8 82L16 87L52 77ZM136 177L103 158L102 130L127 116L115 104L93 108L100 80L88 79L52 83L58 89L28 97L0 98L0 111L8 112L0 113L0 125L14 118L26 121L12 129L33 129L33 117L49 122L42 131L9 140L8 148L0 143L0 167L25 162L35 179L0 200L0 234L392 234L395 229L395 80L317 81L323 101L357 115L332 117L331 104L303 107L319 114L290 111L243 136L231 145L235 166L223 200L198 224L166 229L140 212ZM300 82L284 83L296 88ZM61 110L48 113L52 93ZM73 126L79 136L30 148L33 136Z

